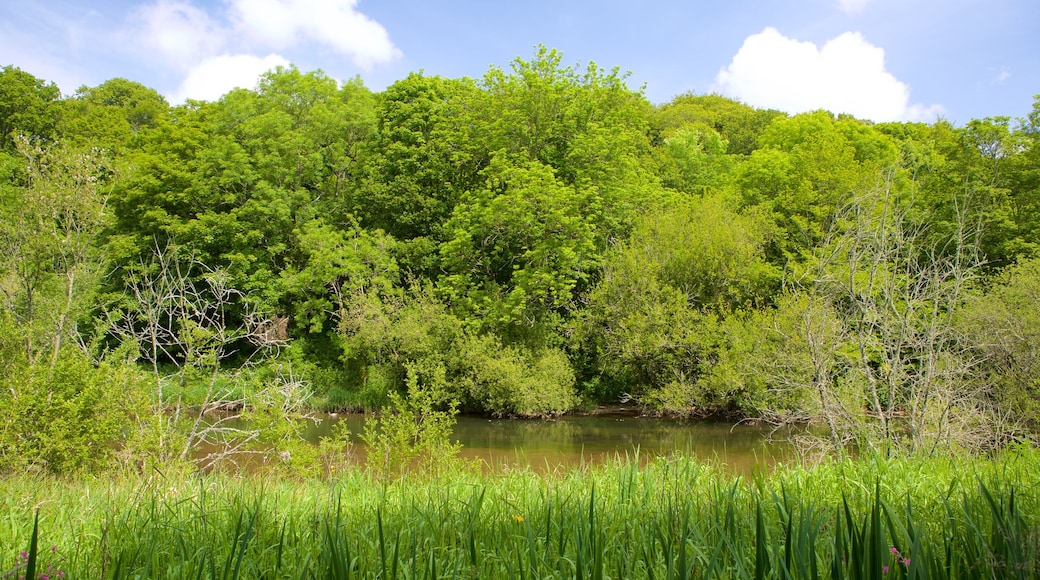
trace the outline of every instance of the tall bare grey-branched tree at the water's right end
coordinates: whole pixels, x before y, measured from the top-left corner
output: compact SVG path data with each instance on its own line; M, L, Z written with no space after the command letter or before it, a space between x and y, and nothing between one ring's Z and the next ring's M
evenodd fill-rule
M813 392L831 440L858 440L934 451L941 444L976 446L992 420L979 359L954 316L982 264L978 222L956 197L957 229L928 245L926 227L909 218L913 199L899 199L891 173L854 196L835 216L805 287L837 311L846 331L821 337L811 311L802 328L814 361ZM830 344L830 340L843 344ZM835 359L837 355L837 359ZM838 360L840 359L840 360ZM841 374L830 369L839 364ZM858 393L858 408L837 401Z

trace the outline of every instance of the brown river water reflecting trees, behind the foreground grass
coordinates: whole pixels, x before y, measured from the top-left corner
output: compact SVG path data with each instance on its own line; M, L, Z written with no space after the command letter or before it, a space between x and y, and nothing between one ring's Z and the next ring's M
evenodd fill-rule
M358 437L364 430L363 416L322 418L308 431L308 439L317 441L340 421L347 423L356 447L363 451L364 443ZM538 471L553 471L615 457L638 455L645 462L654 456L686 453L748 474L792 456L789 444L771 441L782 438L769 426L621 415L554 420L462 416L458 418L453 439L462 444L463 457L480 459L493 470L530 466Z

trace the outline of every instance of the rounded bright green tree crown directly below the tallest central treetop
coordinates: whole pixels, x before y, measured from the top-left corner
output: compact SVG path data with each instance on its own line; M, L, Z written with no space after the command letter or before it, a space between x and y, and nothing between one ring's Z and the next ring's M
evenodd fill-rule
M596 267L587 199L538 162L496 158L486 188L448 221L440 289L460 312L490 328L524 334L573 310L575 290Z

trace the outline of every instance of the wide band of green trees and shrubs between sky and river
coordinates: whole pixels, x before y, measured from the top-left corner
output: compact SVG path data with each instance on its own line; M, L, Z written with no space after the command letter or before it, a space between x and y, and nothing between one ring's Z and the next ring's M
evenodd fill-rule
M1040 99L963 127L655 106L544 48L175 107L6 67L0 135L0 402L34 433L8 450L54 405L269 385L283 411L822 421L838 448L1040 420Z

